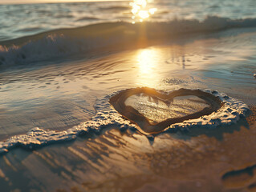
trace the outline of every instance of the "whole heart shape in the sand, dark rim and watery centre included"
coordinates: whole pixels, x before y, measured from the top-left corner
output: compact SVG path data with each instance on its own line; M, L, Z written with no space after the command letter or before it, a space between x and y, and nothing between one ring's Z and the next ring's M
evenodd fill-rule
M123 90L109 102L143 134L160 133L173 123L200 118L221 107L219 98L202 90L160 93L148 87Z

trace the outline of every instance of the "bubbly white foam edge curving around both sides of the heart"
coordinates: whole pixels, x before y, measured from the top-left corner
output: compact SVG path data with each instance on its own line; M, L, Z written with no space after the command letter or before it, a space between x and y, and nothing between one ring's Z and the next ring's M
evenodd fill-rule
M79 126L73 126L71 129L63 131L33 128L27 134L17 135L7 139L5 142L0 142L0 154L5 154L14 147L33 150L52 143L68 142L75 140L79 135L87 134L89 132L100 134L101 130L105 130L108 127L119 127L120 131L127 129L136 130L136 126L122 118L122 116L114 110L108 102L112 96L121 91L122 90L113 94L108 94L104 98L98 99L95 104L96 114L95 117L91 118L91 121L81 123ZM231 124L238 122L240 118L245 118L248 111L250 111L249 107L244 102L230 98L226 94L218 93L215 90L202 91L220 98L221 102L224 103L224 106L221 106L216 112L204 115L201 118L175 123L165 128L163 132L175 133L177 130L187 131L193 129L193 127L212 129L217 126L230 126ZM148 136L149 139L152 137L152 135Z

